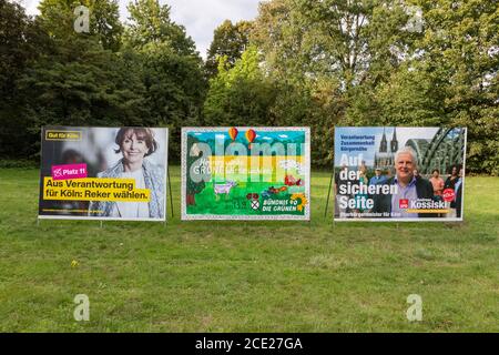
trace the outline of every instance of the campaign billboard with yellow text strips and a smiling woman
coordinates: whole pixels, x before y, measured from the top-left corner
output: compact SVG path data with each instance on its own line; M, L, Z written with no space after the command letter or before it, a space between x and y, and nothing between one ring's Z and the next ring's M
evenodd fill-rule
M167 129L41 133L39 219L165 221Z

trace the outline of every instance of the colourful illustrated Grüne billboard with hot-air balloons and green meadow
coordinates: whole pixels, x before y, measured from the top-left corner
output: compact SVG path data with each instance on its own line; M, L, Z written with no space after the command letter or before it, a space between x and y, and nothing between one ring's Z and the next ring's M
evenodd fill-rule
M308 128L182 129L183 220L309 220Z

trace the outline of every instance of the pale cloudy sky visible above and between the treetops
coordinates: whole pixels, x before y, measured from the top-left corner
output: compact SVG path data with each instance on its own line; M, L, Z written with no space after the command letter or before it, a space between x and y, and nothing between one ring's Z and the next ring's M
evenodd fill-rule
M40 0L18 0L29 14L37 14ZM130 0L119 0L121 20L128 19L126 4ZM213 40L213 31L224 20L232 22L253 20L258 11L259 0L160 0L171 7L172 20L183 24L187 36L196 43L201 57Z

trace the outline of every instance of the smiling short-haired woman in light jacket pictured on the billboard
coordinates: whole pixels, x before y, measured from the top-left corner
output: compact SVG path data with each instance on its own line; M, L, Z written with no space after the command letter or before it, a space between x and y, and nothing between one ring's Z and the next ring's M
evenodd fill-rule
M115 138L116 154L122 158L116 164L98 173L98 178L133 179L135 189L150 191L149 202L93 201L89 215L119 219L164 217L164 169L146 159L159 145L154 133L146 128L121 128Z

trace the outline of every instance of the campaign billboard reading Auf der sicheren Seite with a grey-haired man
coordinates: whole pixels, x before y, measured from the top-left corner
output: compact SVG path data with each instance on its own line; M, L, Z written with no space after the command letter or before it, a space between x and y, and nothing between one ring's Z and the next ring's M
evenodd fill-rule
M336 128L336 221L462 221L465 128Z

